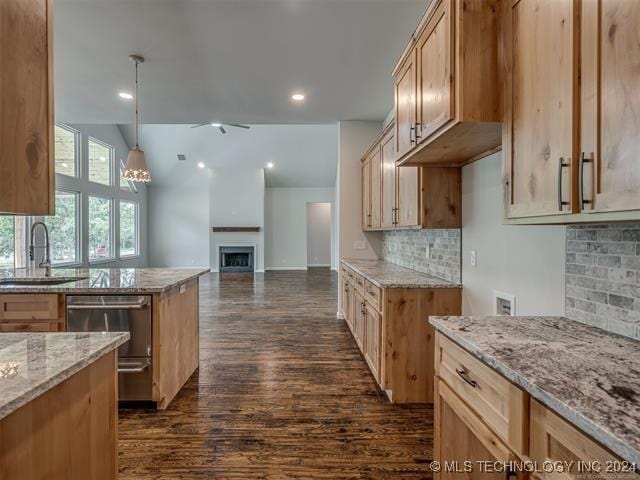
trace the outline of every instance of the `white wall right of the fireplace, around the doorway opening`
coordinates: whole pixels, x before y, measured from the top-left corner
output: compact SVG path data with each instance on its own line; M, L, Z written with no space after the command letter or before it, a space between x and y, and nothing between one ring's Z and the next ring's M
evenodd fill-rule
M307 268L307 203L309 202L327 202L333 205L334 189L266 189L265 268L267 270ZM335 219L335 214L332 214L331 218ZM333 236L331 238L333 239ZM331 244L331 249L334 250L334 242L332 241Z

